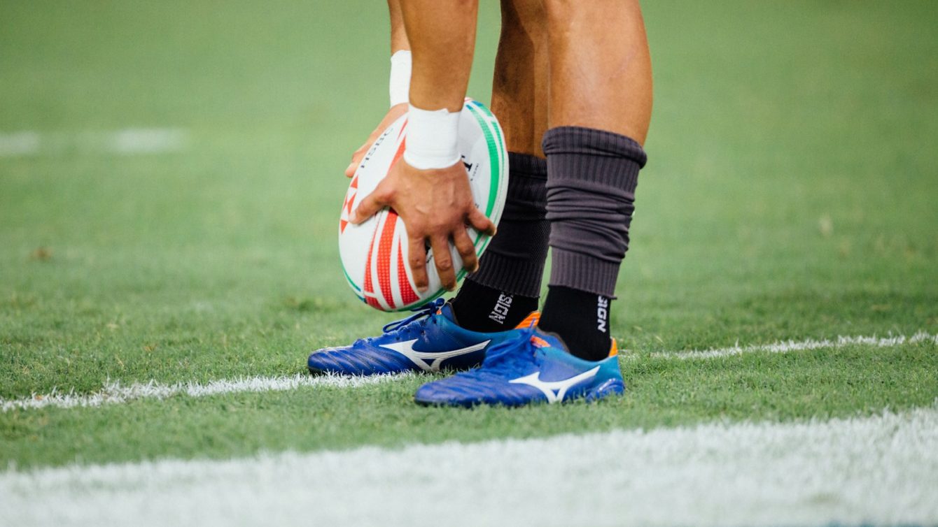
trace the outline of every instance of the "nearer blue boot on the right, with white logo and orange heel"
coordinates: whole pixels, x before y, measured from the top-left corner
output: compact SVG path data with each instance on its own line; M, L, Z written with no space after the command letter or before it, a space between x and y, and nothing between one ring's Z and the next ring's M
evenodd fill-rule
M585 398L596 401L622 394L625 383L616 344L606 359L578 359L559 338L537 328L516 332L516 338L493 346L482 365L433 381L416 390L416 403L473 406L560 403Z

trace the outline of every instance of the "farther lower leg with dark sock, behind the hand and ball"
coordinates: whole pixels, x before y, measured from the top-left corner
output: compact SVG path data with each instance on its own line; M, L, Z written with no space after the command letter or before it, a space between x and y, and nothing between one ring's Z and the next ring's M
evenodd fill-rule
M505 0L492 81L492 112L505 131L508 192L498 234L479 271L466 278L452 308L476 331L514 328L537 310L547 258L547 163L540 139L547 127L547 53L539 0Z

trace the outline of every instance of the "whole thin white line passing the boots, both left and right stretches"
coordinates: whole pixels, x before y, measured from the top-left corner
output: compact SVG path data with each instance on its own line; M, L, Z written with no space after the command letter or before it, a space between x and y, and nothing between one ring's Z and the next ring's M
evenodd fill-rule
M848 344L870 345L877 347L891 347L901 344L915 344L930 342L938 344L938 336L925 332L915 333L912 337L839 337L837 340L784 342L776 344L753 345L747 347L734 346L723 349L710 349L704 351L682 352L656 352L651 356L660 359L716 359L744 353L788 353L791 351L805 351L811 349L841 347ZM623 354L626 359L638 359L635 354ZM176 383L173 385L161 384L156 381L148 383L134 383L127 387L119 382L108 383L95 393L76 394L53 390L48 394L33 394L21 399L5 400L0 398L0 409L8 412L13 409L34 409L45 407L73 408L76 406L100 406L108 403L127 403L137 399L164 399L177 394L186 394L191 397L204 397L224 393L241 391L268 391L287 390L303 387L332 387L356 388L378 382L400 379L401 375L381 375L378 377L342 377L326 375L311 377L305 373L276 377L250 377L243 379L218 380L207 384Z

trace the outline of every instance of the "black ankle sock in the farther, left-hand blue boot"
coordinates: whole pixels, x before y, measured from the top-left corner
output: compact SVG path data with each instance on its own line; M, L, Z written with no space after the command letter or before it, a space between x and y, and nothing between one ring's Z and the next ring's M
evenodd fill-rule
M506 331L515 329L524 317L537 310L537 297L512 295L466 280L449 305L456 323L463 329Z

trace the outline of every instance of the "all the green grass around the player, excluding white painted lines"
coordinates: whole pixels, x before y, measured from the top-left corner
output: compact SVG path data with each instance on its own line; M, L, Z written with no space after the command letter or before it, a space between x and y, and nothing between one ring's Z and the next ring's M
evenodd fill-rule
M295 373L393 319L336 254L341 171L386 107L383 8L0 3L0 135L52 139L0 155L0 398ZM938 4L644 8L656 107L613 303L624 347L938 333ZM481 19L487 100L497 8ZM188 146L88 139L133 127ZM929 346L649 360L621 402L518 414L419 409L416 381L13 412L0 461L847 415L938 397Z

